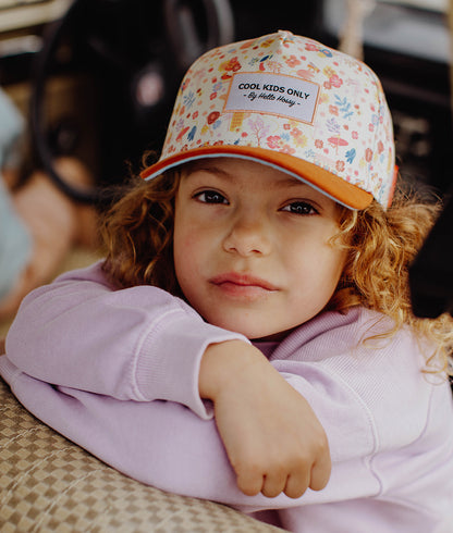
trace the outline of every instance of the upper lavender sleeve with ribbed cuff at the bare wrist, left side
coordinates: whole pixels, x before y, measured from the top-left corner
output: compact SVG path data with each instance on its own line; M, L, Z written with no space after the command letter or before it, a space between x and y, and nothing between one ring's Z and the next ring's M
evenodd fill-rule
M171 400L209 418L198 394L203 354L237 338L248 343L157 287L113 290L96 263L24 299L7 354L42 382L120 400Z

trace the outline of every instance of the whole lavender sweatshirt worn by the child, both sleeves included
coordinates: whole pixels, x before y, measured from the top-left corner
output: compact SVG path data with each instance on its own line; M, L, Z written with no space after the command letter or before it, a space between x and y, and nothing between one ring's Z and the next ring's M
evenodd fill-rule
M362 308L327 312L267 354L329 438L331 479L298 499L237 489L198 395L206 346L244 337L156 287L114 290L100 263L25 298L0 373L36 417L143 483L247 513L270 509L294 532L448 533L452 394L444 379L421 372L407 330L360 343L388 327Z

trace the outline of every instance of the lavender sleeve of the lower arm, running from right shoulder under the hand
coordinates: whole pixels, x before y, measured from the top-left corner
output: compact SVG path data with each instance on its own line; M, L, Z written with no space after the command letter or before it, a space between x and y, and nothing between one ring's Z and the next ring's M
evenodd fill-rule
M341 350L341 332L333 335L332 351ZM414 345L406 340L393 338L367 357L358 350L316 362L296 355L271 361L314 408L332 455L327 487L297 499L241 493L215 420L203 420L181 402L120 400L52 386L22 372L7 356L0 357L0 374L37 418L133 479L244 512L290 512L308 504L385 498L384 492L392 497L395 486L411 500L421 472L443 469L453 445L444 423L453 414L451 392L446 382L430 384L417 364L409 364ZM314 351L326 351L327 342L321 338ZM412 453L420 461L403 459Z

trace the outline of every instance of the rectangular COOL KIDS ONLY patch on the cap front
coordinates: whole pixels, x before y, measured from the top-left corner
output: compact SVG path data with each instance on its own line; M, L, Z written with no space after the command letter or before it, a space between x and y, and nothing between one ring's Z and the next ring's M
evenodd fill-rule
M225 111L252 111L313 123L319 85L293 76L268 73L234 74Z

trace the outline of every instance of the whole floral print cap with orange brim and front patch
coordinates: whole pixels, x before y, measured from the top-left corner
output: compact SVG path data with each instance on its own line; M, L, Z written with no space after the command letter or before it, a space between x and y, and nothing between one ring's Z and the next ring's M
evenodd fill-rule
M161 158L142 176L209 157L272 165L352 209L372 198L389 207L396 175L392 119L376 74L283 30L195 61Z

